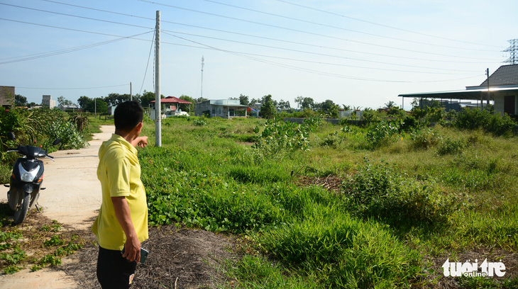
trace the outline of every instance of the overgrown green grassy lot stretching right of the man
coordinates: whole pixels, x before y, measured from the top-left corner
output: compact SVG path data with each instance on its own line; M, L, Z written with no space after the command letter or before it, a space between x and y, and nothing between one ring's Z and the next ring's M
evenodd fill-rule
M167 118L157 148L146 122L150 224L248 240L224 288L517 288L517 137L401 128ZM445 277L446 259L505 276Z

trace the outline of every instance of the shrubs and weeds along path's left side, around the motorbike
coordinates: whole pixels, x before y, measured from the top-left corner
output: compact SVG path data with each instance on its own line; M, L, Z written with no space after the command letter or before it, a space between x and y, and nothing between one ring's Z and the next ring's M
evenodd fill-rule
M79 149L87 145L89 134L98 130L97 123L97 117L81 113L45 109L29 111L25 108L0 110L0 182L9 183L13 163L18 157L17 154L6 153L8 147L16 147L20 142L22 145L48 147L49 152ZM7 132L13 132L17 142L8 140ZM56 138L62 140L61 144L50 147ZM55 220L47 220L35 209L28 213L23 224L14 226L9 205L0 203L0 270L4 273L59 266L62 257L81 249L84 242L79 234L63 228Z

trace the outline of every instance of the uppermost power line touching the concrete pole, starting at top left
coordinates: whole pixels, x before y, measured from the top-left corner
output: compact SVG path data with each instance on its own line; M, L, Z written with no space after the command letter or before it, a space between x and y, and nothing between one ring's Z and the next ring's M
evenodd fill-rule
M93 10L93 11L101 11L101 12L113 13L113 14L121 15L121 16L128 16L128 17L133 17L133 18L142 18L142 19L145 19L145 20L155 21L154 18L148 18L148 17L143 17L143 16L135 16L135 15L131 15L131 14L119 13L119 12L115 12L115 11L107 11L107 10L98 9L98 8L91 8L91 7L86 7L86 6L72 5L72 4L67 4L67 3L62 3L62 2L58 2L58 1L52 1L52 0L43 0L43 1L47 1L47 2L55 3L55 4L62 4L62 5L66 5L66 6L73 6L73 7L77 7L77 8L84 8L84 9L89 9L89 10ZM92 18L92 20L99 20L99 19ZM102 21L102 20L99 20L99 21ZM205 29L205 30L218 31L218 32L229 33L229 34L234 34L234 35L248 36L248 37L252 37L252 38L260 38L260 39L274 40L274 41L279 41L279 42L287 42L287 43L292 43L292 44L297 44L297 45L306 45L306 46L309 46L309 47L325 48L325 49L329 49L329 50L338 50L338 51L345 51L345 52L356 52L356 53L361 53L361 54L366 54L366 55L377 55L377 56L382 56L382 57L395 57L395 58L408 59L408 60L422 60L422 61L428 61L428 62L448 62L448 63L451 63L451 62L454 62L454 63L492 63L492 62L500 62L500 60L491 60L492 62L463 62L463 61L457 61L457 60L427 60L427 59L418 58L418 57L402 57L402 56L397 56L397 55L385 55L385 54L380 54L380 53L363 52L363 51L358 51L358 50L346 50L346 49L337 48L337 47L328 47L328 46L314 45L314 44L309 44L309 43L304 43L304 42L296 42L296 41L290 41L290 40L268 38L268 37L264 37L264 36L251 35L251 34L247 34L247 33L237 33L237 32L228 31L228 30L208 28L208 27L203 27L203 26L194 26L194 25L189 25L189 24L185 24L185 23L178 23L178 22L174 22L174 21L161 20L161 22L162 23L172 23L172 24L175 24L175 25L187 26L187 27L192 27L192 28L200 28L200 29ZM123 23L123 24L126 25L126 23ZM456 58L466 58L466 59L472 59L472 60L490 60L490 59L483 59L483 58L480 58L480 57L458 57L458 56L451 56L451 55L440 55L440 56L456 57Z

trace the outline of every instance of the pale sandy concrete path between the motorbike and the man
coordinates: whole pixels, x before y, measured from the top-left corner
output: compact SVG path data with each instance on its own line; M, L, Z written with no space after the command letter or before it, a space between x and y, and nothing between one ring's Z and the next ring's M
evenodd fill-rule
M114 132L113 125L101 126L89 147L54 152L55 162L45 159L45 175L38 203L43 215L76 229L89 229L101 207L101 184L97 180L97 152L104 140ZM0 186L0 200L6 202L8 188ZM63 259L63 263L66 260ZM62 271L45 268L31 272L26 269L13 275L0 276L0 288L78 288Z

